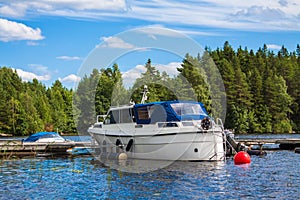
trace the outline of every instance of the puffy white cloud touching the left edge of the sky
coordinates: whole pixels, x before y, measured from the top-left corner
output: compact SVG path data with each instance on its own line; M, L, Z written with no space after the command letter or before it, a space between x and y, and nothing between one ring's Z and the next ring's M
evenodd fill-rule
M39 28L33 29L22 23L17 23L0 18L0 41L9 42L15 40L42 40L42 32Z

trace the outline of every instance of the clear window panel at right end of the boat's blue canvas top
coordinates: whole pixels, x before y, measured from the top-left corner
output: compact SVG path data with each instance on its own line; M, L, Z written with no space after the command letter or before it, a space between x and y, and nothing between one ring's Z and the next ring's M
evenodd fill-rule
M200 104L196 103L172 103L170 104L172 109L177 115L205 115Z

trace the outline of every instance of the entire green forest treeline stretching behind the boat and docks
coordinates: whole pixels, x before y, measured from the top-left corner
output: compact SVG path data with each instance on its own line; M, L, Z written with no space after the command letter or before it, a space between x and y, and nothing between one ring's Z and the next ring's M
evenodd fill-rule
M226 115L225 128L236 133L291 133L300 131L300 46L274 53L264 45L256 52L205 49L186 54L178 75L170 77L146 61L146 72L125 88L117 64L94 69L76 91L58 80L49 88L34 79L22 82L15 71L0 68L0 133L28 135L53 124L63 133L86 133L97 114L111 105L139 103L149 88L148 101L197 100L213 117ZM224 86L224 87L223 87Z

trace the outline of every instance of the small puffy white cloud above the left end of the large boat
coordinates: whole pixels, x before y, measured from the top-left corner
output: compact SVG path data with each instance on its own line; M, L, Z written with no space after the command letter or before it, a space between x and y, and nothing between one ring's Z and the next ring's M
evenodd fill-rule
M133 49L135 48L134 45L125 42L121 38L118 37L101 37L101 40L103 40L103 44L101 44L99 47L105 47L105 48L113 48L113 49Z

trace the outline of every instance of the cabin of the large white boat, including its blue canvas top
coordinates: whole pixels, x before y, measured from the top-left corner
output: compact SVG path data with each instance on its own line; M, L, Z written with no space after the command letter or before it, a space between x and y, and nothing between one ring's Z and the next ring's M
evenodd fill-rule
M208 117L202 103L193 101L164 101L111 108L104 124L155 124L201 120Z

